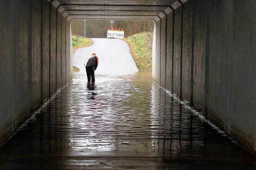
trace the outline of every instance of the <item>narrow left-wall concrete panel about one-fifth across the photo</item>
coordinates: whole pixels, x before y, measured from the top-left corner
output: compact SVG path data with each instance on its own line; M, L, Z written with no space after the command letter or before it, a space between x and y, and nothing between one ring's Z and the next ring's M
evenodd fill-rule
M56 92L56 8L51 5L50 94Z

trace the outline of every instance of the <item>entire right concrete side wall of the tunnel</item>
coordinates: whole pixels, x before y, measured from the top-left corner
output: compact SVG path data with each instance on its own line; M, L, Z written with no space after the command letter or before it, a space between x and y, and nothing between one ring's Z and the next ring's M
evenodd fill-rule
M156 22L153 78L256 154L256 1L181 2Z

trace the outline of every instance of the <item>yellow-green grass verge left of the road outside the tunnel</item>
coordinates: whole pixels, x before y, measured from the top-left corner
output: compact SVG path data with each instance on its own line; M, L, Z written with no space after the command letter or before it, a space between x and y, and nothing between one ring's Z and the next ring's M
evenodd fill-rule
M72 35L73 53L76 51L76 49L89 47L92 44L93 44L93 41L90 38L84 38L79 35ZM73 66L73 72L78 72L78 71L79 71L79 68Z

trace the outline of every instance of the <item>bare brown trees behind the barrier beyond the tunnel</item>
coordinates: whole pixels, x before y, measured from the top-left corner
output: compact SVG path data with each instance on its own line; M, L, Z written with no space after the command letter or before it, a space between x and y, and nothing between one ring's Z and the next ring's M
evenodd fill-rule
M86 20L85 34L89 38L105 38L106 31L111 27L110 20ZM123 28L124 37L129 37L136 33L153 32L153 21L141 20L115 20L113 28ZM72 35L84 36L84 20L72 20Z

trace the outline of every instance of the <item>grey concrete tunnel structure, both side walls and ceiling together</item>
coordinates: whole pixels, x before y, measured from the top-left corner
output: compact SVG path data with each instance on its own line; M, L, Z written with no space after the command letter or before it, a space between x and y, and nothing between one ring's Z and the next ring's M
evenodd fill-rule
M256 154L255 0L0 0L0 16L0 143L72 79L71 20L154 20L153 79Z

